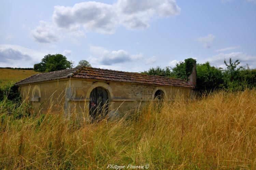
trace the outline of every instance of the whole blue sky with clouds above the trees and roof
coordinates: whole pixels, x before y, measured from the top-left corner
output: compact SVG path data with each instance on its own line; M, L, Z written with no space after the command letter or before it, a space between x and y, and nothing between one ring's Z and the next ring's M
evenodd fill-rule
M256 0L1 0L0 15L0 67L61 53L133 72L189 57L256 68Z

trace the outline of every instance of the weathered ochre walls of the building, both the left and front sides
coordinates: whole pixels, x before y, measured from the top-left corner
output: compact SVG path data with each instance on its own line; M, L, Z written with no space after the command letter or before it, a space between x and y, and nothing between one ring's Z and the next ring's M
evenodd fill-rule
M65 111L67 114L88 116L90 92L98 86L108 91L110 109L118 108L119 113L136 107L140 102L153 100L158 89L162 90L168 99L178 96L180 100L189 100L194 96L194 90L188 88L83 79L49 81L19 88L23 100L31 101L35 109L41 109L41 113L45 113L51 106L54 112Z

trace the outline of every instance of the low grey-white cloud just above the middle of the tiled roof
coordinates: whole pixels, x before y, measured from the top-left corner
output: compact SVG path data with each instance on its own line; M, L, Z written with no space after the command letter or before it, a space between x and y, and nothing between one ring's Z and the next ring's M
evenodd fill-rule
M93 64L110 66L117 63L142 60L142 54L131 55L125 50L108 51L102 47L90 47L90 51L98 56L98 58L89 57L89 62Z

